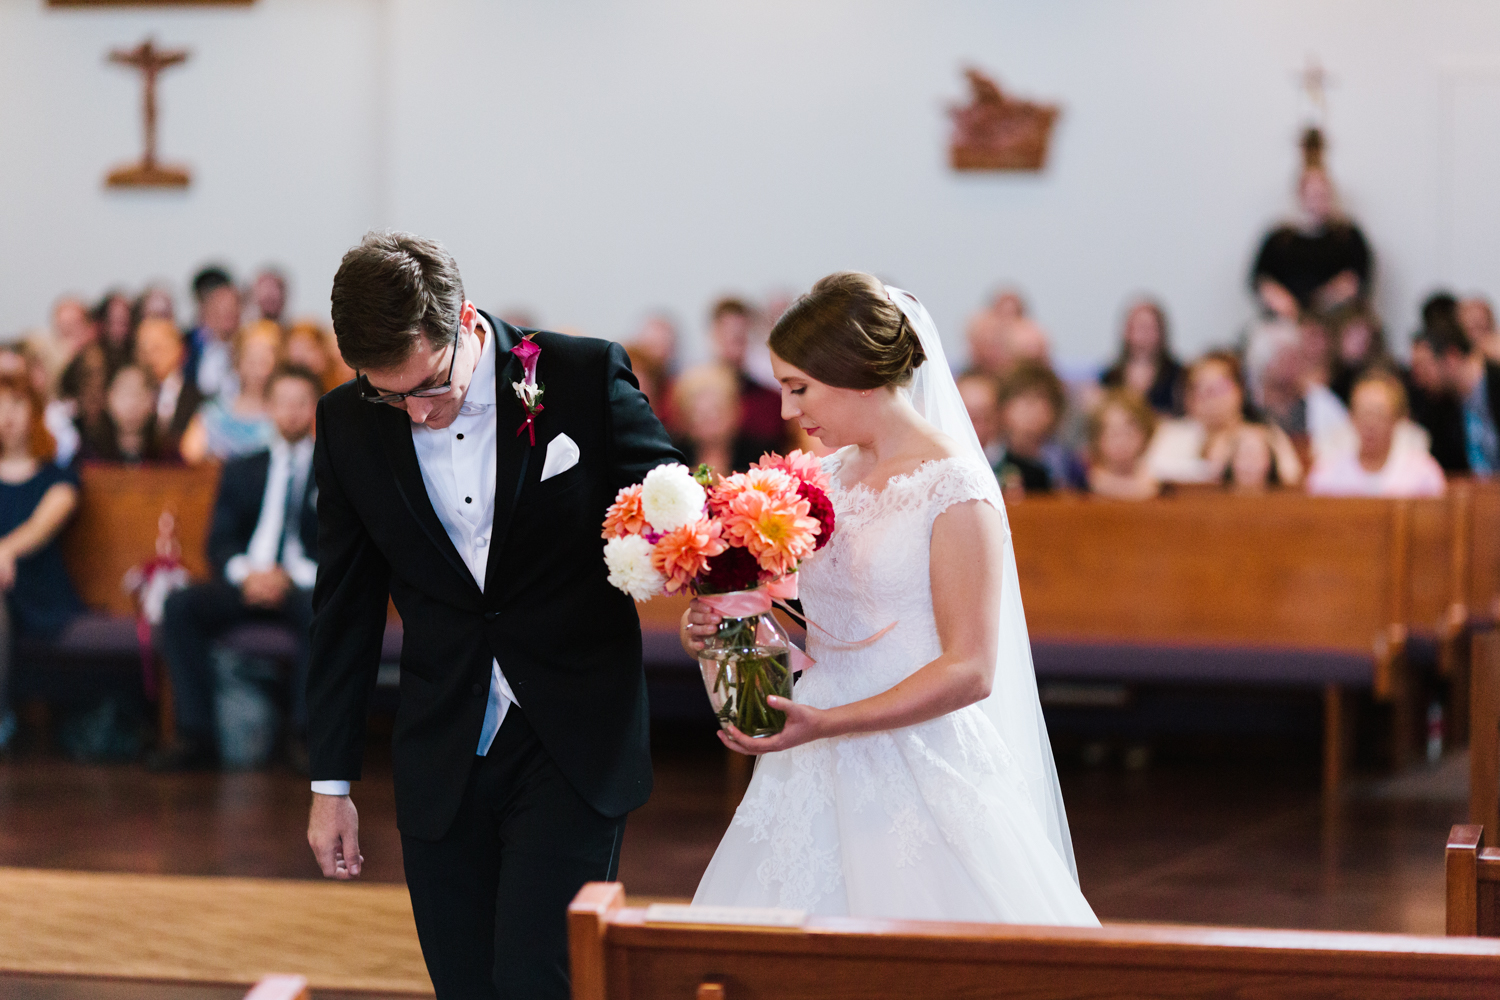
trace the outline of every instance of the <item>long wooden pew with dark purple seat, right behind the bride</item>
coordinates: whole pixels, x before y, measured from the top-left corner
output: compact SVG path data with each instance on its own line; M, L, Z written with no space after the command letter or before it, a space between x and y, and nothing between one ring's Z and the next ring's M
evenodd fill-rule
M1368 688L1394 706L1401 763L1416 736L1413 504L1292 492L1016 504L1038 676L1322 690L1329 790L1344 771L1346 693ZM1442 534L1443 517L1425 514L1424 531Z

